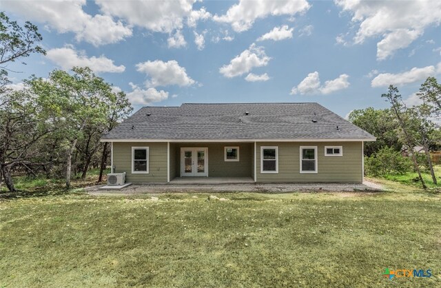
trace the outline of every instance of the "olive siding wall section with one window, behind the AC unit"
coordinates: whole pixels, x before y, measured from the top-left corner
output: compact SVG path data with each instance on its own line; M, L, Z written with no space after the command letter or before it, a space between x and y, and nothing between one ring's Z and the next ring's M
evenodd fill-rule
M149 147L149 174L132 174L132 147ZM115 173L126 173L126 182L167 182L167 143L114 142L113 165Z

